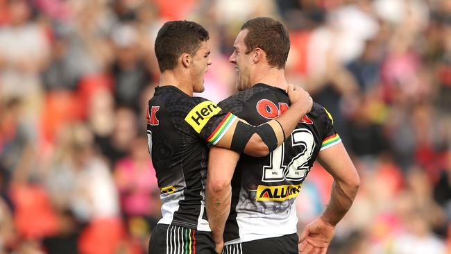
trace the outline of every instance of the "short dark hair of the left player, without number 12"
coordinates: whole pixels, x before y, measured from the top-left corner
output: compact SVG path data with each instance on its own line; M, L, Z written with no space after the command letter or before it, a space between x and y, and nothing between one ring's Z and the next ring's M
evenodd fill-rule
M201 42L209 39L208 31L196 22L177 20L164 23L155 40L160 71L174 69L182 53L193 56L201 47Z

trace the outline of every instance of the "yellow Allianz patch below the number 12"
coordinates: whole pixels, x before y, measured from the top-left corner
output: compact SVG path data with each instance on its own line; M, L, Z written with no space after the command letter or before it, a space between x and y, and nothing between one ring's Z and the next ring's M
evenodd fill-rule
M300 185L278 185L265 186L258 185L256 201L284 201L289 198L296 198L300 192Z

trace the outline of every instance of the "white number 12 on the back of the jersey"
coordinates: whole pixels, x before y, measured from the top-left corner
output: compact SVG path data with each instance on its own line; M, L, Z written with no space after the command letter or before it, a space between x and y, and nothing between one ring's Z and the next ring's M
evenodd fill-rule
M315 148L312 132L298 128L291 133L291 147L300 146L302 151L284 165L285 142L269 155L269 166L263 167L263 182L280 182L283 180L303 180L309 171L309 160ZM296 149L297 150L297 149Z

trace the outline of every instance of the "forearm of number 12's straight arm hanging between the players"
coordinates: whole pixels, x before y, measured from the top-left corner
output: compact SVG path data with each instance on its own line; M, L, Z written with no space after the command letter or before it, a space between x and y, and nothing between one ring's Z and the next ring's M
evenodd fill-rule
M212 237L215 244L220 244L223 242L224 227L230 213L232 188L230 185L221 189L207 187L206 196L207 218L212 229Z

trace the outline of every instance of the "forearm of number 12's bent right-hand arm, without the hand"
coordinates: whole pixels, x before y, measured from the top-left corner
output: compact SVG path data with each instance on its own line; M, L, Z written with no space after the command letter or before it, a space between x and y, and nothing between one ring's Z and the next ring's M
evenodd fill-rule
M337 184L334 181L330 202L321 215L321 219L332 226L336 226L350 209L358 189L358 186Z

